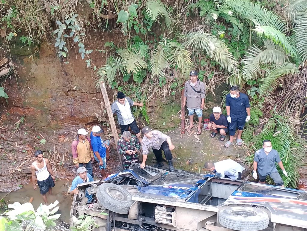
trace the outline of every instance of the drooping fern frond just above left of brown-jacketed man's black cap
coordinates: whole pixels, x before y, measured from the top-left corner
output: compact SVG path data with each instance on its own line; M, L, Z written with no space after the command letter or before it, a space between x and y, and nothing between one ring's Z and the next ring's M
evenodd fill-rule
M165 53L169 64L173 67L178 67L181 74L187 76L193 66L191 60L192 52L185 49L181 44L167 41Z

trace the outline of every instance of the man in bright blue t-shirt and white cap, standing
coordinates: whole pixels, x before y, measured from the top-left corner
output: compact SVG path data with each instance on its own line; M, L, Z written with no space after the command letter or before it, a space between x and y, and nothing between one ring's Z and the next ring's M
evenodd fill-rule
M91 145L93 147L94 158L99 163L100 174L103 179L105 176L105 169L107 168L107 159L110 156L110 141L103 141L100 137L103 133L103 129L101 129L98 125L95 125L92 128L91 132Z

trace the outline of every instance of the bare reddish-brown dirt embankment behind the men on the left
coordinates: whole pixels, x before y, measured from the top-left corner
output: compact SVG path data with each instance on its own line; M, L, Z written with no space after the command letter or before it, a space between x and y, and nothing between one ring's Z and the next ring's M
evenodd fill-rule
M102 47L100 43L90 43L92 47L87 49ZM19 88L14 80L6 84L8 102L0 99L0 191L29 182L29 167L37 149L52 161L58 177L75 175L70 144L76 131L90 129L98 123L97 117L104 117L95 72L79 56L74 57L72 51L69 64L61 63L55 50L44 44L33 56L13 56L20 78ZM99 52L91 57L95 65L104 64ZM111 134L107 123L105 126L106 134ZM117 154L111 153L109 173L115 171L116 158Z

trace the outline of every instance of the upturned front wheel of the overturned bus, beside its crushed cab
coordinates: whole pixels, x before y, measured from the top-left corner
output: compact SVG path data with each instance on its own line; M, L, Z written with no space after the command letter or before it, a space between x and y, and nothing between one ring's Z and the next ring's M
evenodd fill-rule
M112 183L101 184L96 197L100 205L118 214L129 213L133 203L131 194L126 189Z

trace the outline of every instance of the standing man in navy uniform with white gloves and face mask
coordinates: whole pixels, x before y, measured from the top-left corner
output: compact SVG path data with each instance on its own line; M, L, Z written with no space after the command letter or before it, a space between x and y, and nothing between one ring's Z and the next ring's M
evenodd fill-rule
M232 144L236 129L238 129L237 144L242 145L241 135L245 122L251 119L251 109L248 96L239 92L238 86L232 86L230 93L226 95L226 111L230 140L225 143L225 147L228 148Z

